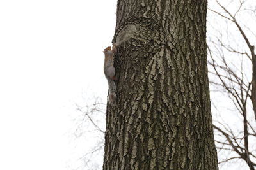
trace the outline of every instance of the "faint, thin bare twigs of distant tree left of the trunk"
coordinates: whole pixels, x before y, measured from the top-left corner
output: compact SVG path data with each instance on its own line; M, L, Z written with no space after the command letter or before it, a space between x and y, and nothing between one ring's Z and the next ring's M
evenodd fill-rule
M75 120L77 124L73 134L77 139L81 137L88 138L89 135L93 134L94 143L90 150L83 151L85 153L76 160L80 165L75 168L76 170L84 168L90 170L102 169L106 103L102 102L100 97L93 97L90 101L93 101L93 103L86 103L85 106L76 104L79 115L77 115ZM84 145L86 145L87 141Z

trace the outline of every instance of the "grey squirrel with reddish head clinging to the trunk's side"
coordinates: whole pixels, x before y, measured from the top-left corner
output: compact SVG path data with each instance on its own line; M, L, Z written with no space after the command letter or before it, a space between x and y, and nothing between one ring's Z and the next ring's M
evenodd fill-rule
M108 80L108 103L112 106L117 106L116 104L116 85L114 80L116 80L115 77L115 67L114 67L114 60L113 55L115 53L116 46L113 45L113 48L111 50L111 46L108 46L106 49L104 49L103 53L105 55L104 60L104 74L106 79Z

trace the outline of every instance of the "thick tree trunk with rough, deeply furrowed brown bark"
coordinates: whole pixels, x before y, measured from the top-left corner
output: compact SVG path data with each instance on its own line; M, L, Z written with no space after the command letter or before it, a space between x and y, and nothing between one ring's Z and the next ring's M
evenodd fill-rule
M103 169L218 169L206 11L207 0L118 0Z

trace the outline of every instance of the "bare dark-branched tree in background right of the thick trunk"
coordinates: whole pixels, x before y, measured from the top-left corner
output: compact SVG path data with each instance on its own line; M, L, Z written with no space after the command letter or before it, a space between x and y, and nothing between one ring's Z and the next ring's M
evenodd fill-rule
M232 117L215 118L215 140L219 153L230 152L219 163L242 159L250 170L256 167L256 3L255 1L230 1L212 8L218 15L218 24L209 25L215 34L209 34L209 73L214 90L231 99ZM237 10L234 11L234 8ZM222 20L223 22L220 22ZM254 23L253 23L254 22ZM223 29L223 27L225 27ZM214 103L214 101L213 101ZM216 108L220 103L214 103ZM236 108L236 109L233 109ZM225 114L223 111L220 116ZM234 118L235 117L235 118ZM234 125L232 118L240 122ZM217 137L218 136L218 137ZM221 155L221 154L220 154Z

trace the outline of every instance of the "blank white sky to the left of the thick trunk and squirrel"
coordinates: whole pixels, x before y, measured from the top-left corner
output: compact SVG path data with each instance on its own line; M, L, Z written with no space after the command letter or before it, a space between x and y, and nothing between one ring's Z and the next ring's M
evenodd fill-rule
M108 89L115 12L116 1L0 1L0 169L67 169L74 103Z

